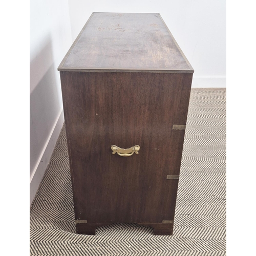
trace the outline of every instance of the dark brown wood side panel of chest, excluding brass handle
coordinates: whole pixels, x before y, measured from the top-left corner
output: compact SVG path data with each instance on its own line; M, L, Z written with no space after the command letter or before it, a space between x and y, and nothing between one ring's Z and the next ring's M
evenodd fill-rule
M178 180L166 177L180 173L185 131L172 127L186 124L192 76L60 72L76 220L174 220Z

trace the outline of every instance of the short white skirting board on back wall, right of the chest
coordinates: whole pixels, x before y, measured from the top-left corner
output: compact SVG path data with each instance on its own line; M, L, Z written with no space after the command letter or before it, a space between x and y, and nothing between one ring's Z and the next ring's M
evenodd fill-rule
M193 77L192 88L226 88L226 77Z

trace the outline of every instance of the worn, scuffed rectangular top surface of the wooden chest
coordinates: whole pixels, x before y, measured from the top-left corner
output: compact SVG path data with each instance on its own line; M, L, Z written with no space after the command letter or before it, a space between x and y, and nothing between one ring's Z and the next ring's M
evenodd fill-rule
M194 72L159 13L92 13L58 71Z

